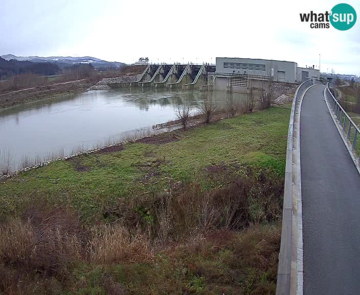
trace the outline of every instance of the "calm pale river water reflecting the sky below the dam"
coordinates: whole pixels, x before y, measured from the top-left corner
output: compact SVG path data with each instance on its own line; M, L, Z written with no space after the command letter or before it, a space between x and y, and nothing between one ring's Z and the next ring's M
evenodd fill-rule
M91 149L126 131L176 119L174 106L183 99L206 99L199 91L109 90L68 95L0 111L0 151L10 151L14 168L24 157ZM226 93L214 92L218 101Z

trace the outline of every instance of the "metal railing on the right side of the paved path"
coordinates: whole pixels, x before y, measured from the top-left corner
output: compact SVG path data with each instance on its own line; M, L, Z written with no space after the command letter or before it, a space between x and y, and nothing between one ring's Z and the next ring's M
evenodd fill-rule
M345 112L339 101L334 97L330 91L329 82L325 89L325 98L329 106L343 128L346 138L350 141L351 147L356 151L357 137L360 135L360 130L350 116ZM356 151L358 153L358 151Z

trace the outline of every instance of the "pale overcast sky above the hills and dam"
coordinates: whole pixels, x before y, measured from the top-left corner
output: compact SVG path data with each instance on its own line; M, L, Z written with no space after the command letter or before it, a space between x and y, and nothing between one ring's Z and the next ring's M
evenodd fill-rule
M295 61L360 75L360 1L347 31L311 29L300 13L339 1L2 0L0 55L93 56L127 64L212 62L216 57Z

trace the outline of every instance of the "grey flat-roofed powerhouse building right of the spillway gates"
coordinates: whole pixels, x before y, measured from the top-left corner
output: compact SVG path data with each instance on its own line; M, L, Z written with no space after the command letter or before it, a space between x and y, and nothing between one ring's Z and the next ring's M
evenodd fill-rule
M301 82L308 78L320 78L319 70L300 68L294 61L216 57L215 90L227 90L232 87L244 88L250 80L268 80L278 82ZM240 90L240 89L239 89ZM240 91L241 92L241 91Z

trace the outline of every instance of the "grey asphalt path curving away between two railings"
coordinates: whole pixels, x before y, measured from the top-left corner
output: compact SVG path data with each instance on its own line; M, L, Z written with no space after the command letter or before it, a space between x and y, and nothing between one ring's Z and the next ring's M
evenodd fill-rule
M360 175L324 100L310 88L300 119L304 295L360 294Z

